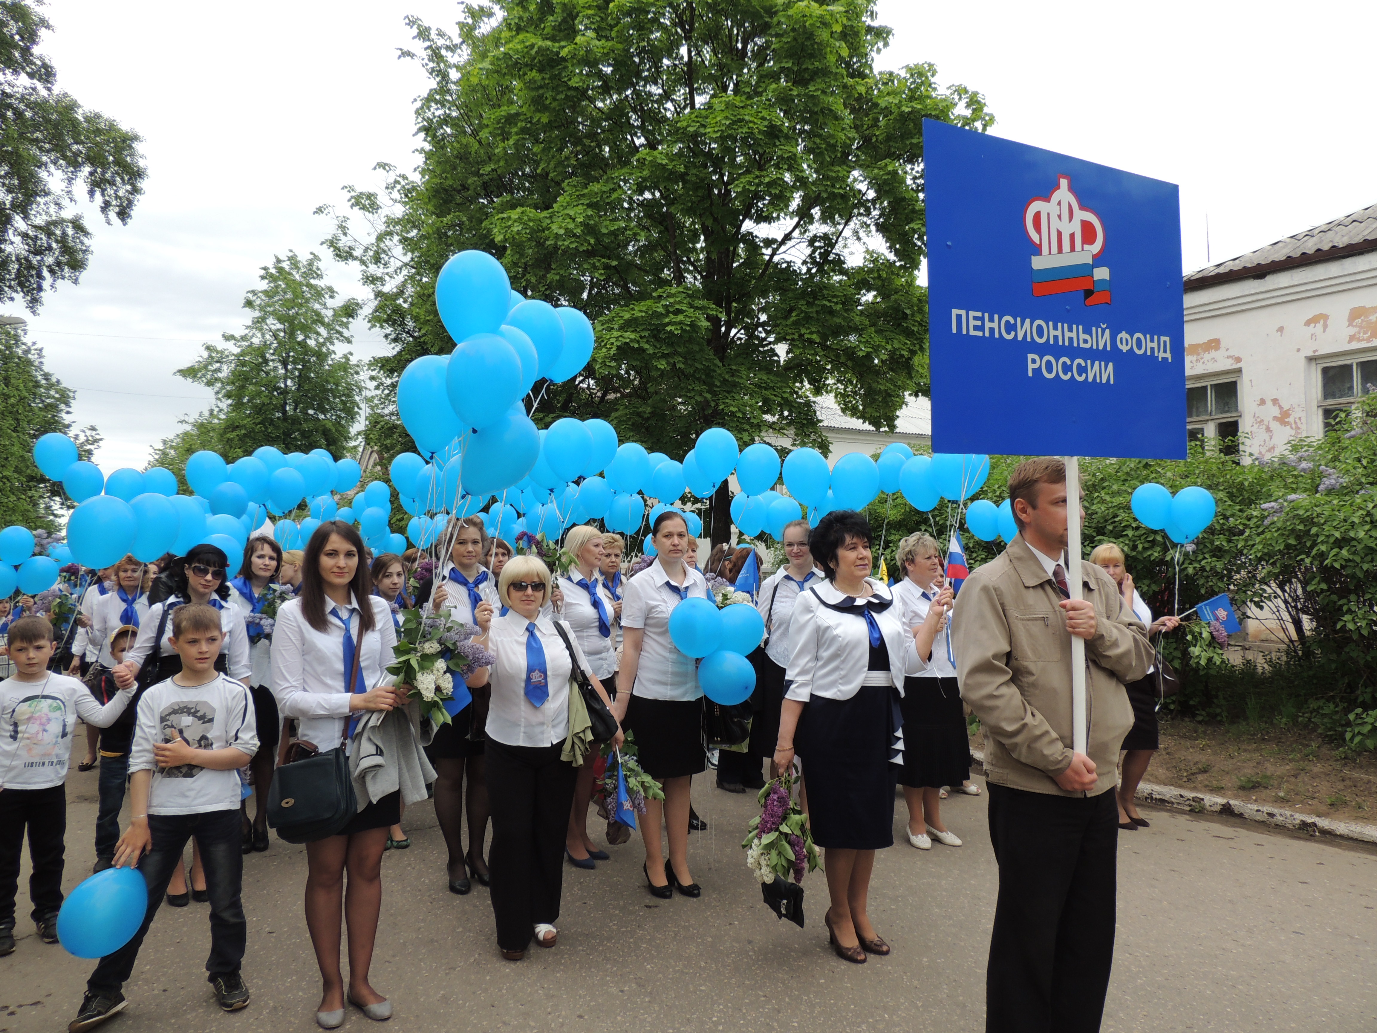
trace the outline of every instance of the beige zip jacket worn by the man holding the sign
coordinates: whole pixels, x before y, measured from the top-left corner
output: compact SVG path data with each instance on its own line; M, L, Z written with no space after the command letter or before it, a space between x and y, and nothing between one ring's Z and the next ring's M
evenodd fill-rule
M1133 727L1124 685L1147 674L1153 647L1108 574L1082 562L1081 581L1096 616L1085 643L1086 752L1099 775L1089 793L1055 781L1071 766L1071 635L1052 577L1020 534L957 595L952 645L961 698L985 727L985 771L996 785L1056 796L1097 796L1115 785L1120 744Z

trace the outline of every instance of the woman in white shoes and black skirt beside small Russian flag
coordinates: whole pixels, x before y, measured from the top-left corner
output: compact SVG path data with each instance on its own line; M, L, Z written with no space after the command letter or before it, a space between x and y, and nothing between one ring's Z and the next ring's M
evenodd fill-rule
M913 634L927 669L903 683L903 771L899 785L909 804L909 843L932 850L961 840L942 824L942 786L971 777L971 740L957 689L952 653L952 587L942 576L942 550L931 534L899 543L895 562L903 580L894 585L899 617ZM979 789L976 789L979 792Z

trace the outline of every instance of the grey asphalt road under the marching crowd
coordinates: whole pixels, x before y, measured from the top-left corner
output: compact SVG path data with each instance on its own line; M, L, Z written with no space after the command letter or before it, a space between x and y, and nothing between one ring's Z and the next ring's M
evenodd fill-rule
M985 797L943 811L960 848L880 853L872 919L894 946L851 966L826 945L821 872L804 880L807 928L761 904L739 848L755 796L700 777L709 829L690 839L701 899L657 901L639 839L596 872L566 868L559 945L519 964L496 948L487 891L446 890L428 803L412 808L412 848L384 862L373 985L402 1030L940 1030L983 1029L985 959L996 869ZM67 877L91 870L96 773L67 781ZM1121 833L1118 946L1104 1030L1367 1030L1377 1025L1377 854L1272 833L1241 821L1144 808L1153 826ZM595 835L600 842L600 832ZM28 865L28 859L25 859ZM302 916L304 848L274 839L245 858L249 1007L215 1008L202 964L205 905L162 908L125 986L131 1004L103 1029L311 1030L318 975ZM92 963L39 941L18 901L18 950L0 959L0 1033L65 1029ZM346 1027L369 1021L354 1011Z

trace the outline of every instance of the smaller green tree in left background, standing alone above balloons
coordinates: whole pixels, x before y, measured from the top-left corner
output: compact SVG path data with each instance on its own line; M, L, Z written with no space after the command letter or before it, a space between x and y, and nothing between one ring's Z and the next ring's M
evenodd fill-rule
M242 333L207 344L201 358L178 376L215 391L215 405L186 430L165 438L150 466L180 471L198 449L233 461L263 445L282 452L350 450L364 402L359 369L337 348L353 337L359 303L335 304L318 255L274 256L263 266L263 286L244 296L253 313Z

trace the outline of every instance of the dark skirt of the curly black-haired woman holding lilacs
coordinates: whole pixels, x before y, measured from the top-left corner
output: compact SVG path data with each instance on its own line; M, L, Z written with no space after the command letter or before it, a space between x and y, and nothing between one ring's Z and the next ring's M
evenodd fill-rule
M850 700L814 696L804 704L795 744L803 758L808 822L819 847L894 846L899 766L890 763L890 756L902 724L898 696L892 686L863 685Z

